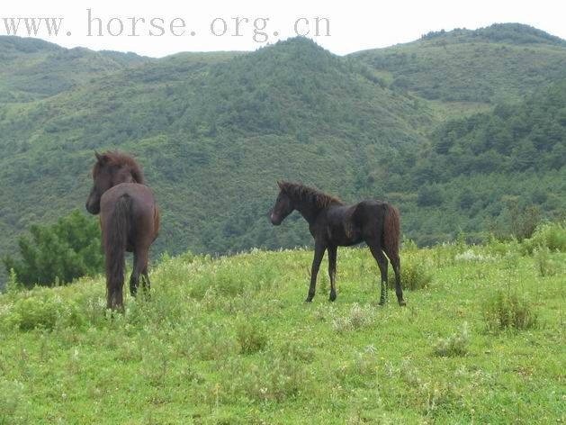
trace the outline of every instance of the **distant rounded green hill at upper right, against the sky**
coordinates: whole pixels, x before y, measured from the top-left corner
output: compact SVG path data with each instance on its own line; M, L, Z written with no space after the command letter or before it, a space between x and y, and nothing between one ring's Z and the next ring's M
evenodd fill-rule
M521 24L431 32L421 40L353 54L392 85L437 102L517 101L566 76L566 42ZM448 104L445 104L445 103Z

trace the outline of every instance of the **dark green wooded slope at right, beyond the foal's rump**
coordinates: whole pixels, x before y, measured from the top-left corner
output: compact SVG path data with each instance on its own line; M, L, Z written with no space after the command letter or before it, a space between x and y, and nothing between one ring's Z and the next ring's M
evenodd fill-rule
M456 228L505 230L533 207L541 218L566 218L566 79L518 104L446 122L430 140L402 187L417 194L415 216L426 216L409 224L420 242L447 239Z

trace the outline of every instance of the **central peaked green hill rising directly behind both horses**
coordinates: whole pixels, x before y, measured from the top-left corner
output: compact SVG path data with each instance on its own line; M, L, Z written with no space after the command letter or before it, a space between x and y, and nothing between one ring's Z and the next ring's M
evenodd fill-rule
M162 249L301 244L304 234L277 239L265 220L277 178L347 195L367 155L424 140L427 108L379 83L295 39L247 55L179 55L4 105L4 229L13 235L82 205L93 150L122 149L156 190Z

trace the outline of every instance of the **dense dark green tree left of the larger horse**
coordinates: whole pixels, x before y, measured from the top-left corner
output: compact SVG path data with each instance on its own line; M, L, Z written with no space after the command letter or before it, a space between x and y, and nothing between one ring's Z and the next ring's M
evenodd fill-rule
M72 282L80 276L94 275L103 269L103 252L98 222L73 211L54 224L30 227L31 239L18 240L20 258L2 259L7 272L15 273L26 287L51 286Z

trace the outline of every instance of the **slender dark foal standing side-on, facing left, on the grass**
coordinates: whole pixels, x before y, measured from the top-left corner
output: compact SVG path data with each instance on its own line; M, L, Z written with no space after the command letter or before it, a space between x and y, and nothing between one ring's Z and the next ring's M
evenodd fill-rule
M380 304L387 300L387 258L395 271L395 292L400 305L405 305L400 282L400 218L391 203L371 200L348 206L339 199L305 185L278 182L279 196L275 201L271 222L278 226L293 210L301 212L309 222L315 240L314 259L310 272L307 303L312 301L317 286L317 274L324 252L328 250L330 301L336 300L337 247L367 243L382 273Z

